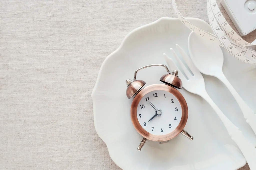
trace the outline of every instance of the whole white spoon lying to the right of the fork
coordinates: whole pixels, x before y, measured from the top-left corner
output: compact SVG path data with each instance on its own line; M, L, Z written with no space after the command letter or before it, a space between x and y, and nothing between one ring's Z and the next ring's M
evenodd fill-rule
M191 32L188 37L188 50L193 63L201 73L214 76L227 86L240 106L246 122L256 134L254 111L243 101L222 72L223 53L219 45L205 41L195 32Z

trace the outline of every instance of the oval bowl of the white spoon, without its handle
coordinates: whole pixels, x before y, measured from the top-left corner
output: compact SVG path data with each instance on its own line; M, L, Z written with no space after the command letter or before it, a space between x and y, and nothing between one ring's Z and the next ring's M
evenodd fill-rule
M189 34L188 44L190 57L200 72L214 76L222 70L224 57L219 45L203 40L195 32Z

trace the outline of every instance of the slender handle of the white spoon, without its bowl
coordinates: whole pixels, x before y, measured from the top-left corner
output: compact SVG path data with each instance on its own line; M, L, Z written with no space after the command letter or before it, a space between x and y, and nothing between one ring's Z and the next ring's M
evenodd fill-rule
M243 112L243 116L246 119L246 122L251 126L252 130L256 134L256 115L254 114L254 111L244 102L244 100L233 88L233 86L230 84L230 82L228 81L228 79L225 77L223 73L219 74L217 78L225 84L225 86L229 89L231 94L234 96L239 107Z

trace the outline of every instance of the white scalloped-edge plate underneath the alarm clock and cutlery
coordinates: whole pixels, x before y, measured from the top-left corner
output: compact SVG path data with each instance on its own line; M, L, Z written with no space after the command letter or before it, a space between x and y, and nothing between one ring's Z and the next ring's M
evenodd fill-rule
M197 27L211 32L203 20L187 18ZM134 71L147 64L166 64L163 53L171 56L170 48L179 44L187 53L187 38L190 31L176 18L161 18L130 32L120 47L103 62L92 92L94 124L98 135L106 143L112 160L124 170L234 170L246 164L236 144L230 139L224 125L212 108L199 96L180 90L187 101L189 115L185 129L194 136L190 141L182 135L169 143L147 141L141 152L136 148L142 137L134 129L130 118L132 99L125 94L127 78L133 79ZM253 66L244 65L225 55L224 73L250 72ZM229 60L229 64L227 63ZM240 68L241 70L237 70ZM164 68L150 67L141 70L137 79L147 85L161 83L166 74ZM249 74L249 73L248 73ZM241 89L236 75L226 74L234 88L249 105L254 106L255 92ZM256 138L245 122L231 94L216 78L204 76L206 89L221 110L249 137L253 144ZM256 77L256 75L254 75ZM233 78L233 79L232 79ZM249 82L245 76L243 81ZM253 80L256 83L255 79ZM247 83L253 87L254 83ZM236 86L237 84L237 86ZM255 91L255 90L254 90ZM254 95L253 95L254 94ZM251 96L250 98L248 97ZM252 101L250 101L252 100ZM254 106L255 109L256 106ZM253 108L253 107L252 107Z

